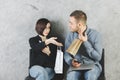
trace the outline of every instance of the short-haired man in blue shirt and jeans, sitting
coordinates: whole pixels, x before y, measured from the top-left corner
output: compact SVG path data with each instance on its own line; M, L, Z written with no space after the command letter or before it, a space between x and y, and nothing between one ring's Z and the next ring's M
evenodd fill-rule
M69 66L75 68L80 67L81 64L94 63L95 66L92 69L84 71L84 78L85 80L97 80L102 71L99 64L102 56L101 36L97 31L88 28L86 23L87 16L83 11L75 10L70 14L69 27L71 32L65 41L64 59ZM66 50L76 38L80 39L82 44L75 59L73 59ZM75 60L79 60L80 63ZM82 73L83 71L80 70L67 72L67 80L80 80Z

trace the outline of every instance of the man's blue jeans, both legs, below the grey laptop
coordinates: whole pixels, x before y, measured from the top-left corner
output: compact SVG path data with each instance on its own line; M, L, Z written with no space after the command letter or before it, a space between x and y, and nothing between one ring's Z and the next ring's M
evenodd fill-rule
M92 70L84 73L85 80L97 80L101 70L95 66ZM67 80L80 80L81 71L71 71L67 73Z

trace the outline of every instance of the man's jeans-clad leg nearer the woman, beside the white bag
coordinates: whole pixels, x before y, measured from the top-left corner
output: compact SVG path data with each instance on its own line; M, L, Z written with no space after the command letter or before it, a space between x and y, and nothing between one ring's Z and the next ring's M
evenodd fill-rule
M67 80L79 80L79 77L80 77L79 71L67 72Z

